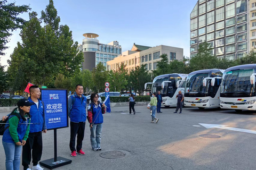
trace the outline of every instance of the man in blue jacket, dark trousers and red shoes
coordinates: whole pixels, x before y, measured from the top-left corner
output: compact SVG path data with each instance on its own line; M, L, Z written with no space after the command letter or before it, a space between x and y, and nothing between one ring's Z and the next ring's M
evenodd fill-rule
M76 154L85 155L82 150L84 139L84 129L86 121L86 104L87 98L83 95L84 88L81 84L76 85L76 92L68 99L69 117L70 117L70 142L69 148L71 156L76 157ZM75 148L77 135L77 143Z

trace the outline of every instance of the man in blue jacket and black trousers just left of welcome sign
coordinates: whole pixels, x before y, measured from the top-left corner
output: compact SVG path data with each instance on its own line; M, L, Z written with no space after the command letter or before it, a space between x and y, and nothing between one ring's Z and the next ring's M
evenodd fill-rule
M47 131L44 106L42 101L39 100L41 91L38 86L31 86L29 88L29 94L30 97L28 98L28 101L30 103L35 103L34 105L30 106L30 122L39 124L30 124L28 139L22 149L22 165L24 170L30 170L29 165L32 150L33 167L31 169L43 170L38 162L41 160L43 150L42 131L43 133L46 133Z

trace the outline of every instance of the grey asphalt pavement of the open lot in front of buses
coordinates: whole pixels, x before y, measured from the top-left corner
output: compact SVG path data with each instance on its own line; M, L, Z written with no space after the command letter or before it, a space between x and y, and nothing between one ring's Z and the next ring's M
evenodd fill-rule
M135 106L135 115L130 115L128 109L113 107L112 113L105 114L102 151L91 149L88 123L84 156L70 157L69 128L57 130L58 156L73 163L56 169L256 169L256 134L199 125L225 124L256 131L253 112L237 114L220 109L183 108L182 114L174 114L174 108L162 108L163 113L156 115L159 118L156 124L150 123L146 106ZM220 138L202 138L201 134L216 134ZM53 158L53 131L43 135L43 146L42 160ZM126 155L118 159L100 157L101 152L110 150L121 150ZM0 152L0 165L4 169L2 144Z

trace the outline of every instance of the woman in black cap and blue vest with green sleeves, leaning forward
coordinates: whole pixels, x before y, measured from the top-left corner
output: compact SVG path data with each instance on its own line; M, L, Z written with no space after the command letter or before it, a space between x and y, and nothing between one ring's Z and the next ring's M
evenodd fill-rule
M18 101L18 108L15 108L9 116L3 134L3 146L5 151L6 170L20 169L20 155L22 146L28 139L30 123L30 103L26 98Z

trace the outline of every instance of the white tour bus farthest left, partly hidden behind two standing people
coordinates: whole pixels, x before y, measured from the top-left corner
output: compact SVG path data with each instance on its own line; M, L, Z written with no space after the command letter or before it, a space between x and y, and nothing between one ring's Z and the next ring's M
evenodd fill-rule
M162 106L173 107L177 105L176 95L181 91L184 94L185 79L188 74L163 74L155 77L151 92L161 91L163 97Z

